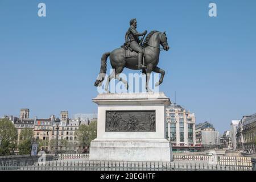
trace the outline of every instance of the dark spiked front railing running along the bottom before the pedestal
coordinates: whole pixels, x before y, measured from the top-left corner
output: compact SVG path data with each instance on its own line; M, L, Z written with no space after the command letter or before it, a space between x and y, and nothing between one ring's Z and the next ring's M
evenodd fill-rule
M1 169L1 168L0 168ZM32 166L8 166L5 170L19 171L251 171L251 167L221 166L180 162L101 162L52 161Z

